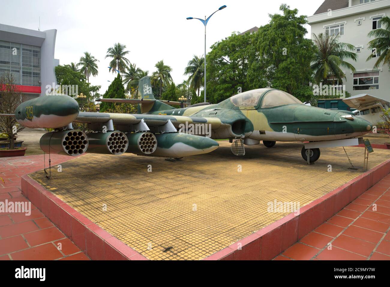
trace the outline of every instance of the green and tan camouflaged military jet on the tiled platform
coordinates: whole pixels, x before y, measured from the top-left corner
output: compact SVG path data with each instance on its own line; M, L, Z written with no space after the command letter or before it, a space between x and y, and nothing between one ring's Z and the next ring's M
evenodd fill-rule
M41 148L71 156L87 151L182 158L211 152L219 146L215 139L229 138L237 155L245 154L244 145L260 141L266 147L276 141L305 142L311 145L303 146L301 155L313 163L320 156L319 147L353 145L347 139L372 128L350 112L303 105L277 89L249 90L219 104L183 108L171 106L179 102L155 99L147 76L140 79L138 90L138 99L100 99L137 104L137 114L80 112L72 97L50 95L22 103L15 117L28 128L55 129L42 136ZM74 130L72 122L87 123L94 132ZM193 126L200 126L196 135Z

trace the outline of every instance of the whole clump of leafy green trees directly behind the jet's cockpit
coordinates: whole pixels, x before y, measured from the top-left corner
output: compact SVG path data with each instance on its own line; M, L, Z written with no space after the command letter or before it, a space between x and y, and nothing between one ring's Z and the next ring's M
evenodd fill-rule
M254 34L233 33L211 46L207 54L207 101L219 103L240 90L273 87L301 100L313 94L310 62L315 46L306 39L306 16L283 4L282 14L269 15L269 24ZM241 87L241 89L239 89ZM203 93L203 92L202 92ZM203 96L194 102L202 102Z

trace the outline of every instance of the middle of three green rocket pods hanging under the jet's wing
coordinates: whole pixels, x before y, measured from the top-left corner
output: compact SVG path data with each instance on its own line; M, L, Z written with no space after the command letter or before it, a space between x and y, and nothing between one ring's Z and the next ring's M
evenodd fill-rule
M121 131L87 133L88 151L94 154L119 155L128 149L129 141Z

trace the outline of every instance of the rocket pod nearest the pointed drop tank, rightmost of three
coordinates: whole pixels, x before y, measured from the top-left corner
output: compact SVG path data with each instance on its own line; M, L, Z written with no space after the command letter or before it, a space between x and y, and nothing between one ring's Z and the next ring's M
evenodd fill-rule
M157 148L157 139L152 133L128 133L129 148L127 152L147 156Z

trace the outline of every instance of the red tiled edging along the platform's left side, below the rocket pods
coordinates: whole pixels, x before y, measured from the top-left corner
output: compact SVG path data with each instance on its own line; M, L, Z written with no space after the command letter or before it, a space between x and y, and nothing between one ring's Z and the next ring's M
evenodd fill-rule
M90 221L41 184L23 175L21 191L92 260L148 260Z

